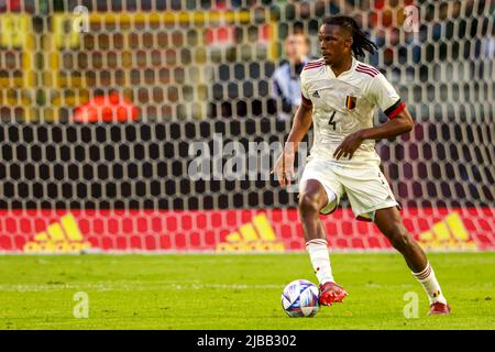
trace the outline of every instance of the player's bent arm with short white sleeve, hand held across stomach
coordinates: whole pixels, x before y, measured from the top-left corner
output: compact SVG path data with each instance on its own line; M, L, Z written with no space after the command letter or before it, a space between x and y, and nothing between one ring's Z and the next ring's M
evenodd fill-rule
M374 78L369 95L371 100L388 116L388 121L378 127L349 134L333 153L333 157L337 160L345 156L352 158L354 152L365 140L389 139L413 130L414 121L409 110L385 76L381 74Z

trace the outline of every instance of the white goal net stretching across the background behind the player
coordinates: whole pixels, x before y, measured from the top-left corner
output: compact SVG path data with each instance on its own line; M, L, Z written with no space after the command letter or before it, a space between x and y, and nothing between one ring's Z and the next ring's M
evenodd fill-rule
M290 130L273 75L331 14L415 118L376 145L407 229L494 250L492 1L3 0L0 252L302 250L297 193L263 173ZM322 220L334 250L391 249L346 199Z

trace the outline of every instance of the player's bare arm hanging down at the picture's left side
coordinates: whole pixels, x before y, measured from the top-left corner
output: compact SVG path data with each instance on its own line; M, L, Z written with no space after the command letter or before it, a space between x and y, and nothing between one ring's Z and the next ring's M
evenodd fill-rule
M294 116L293 128L284 145L284 152L275 163L274 173L282 188L294 179L294 161L300 141L308 133L312 123L312 103L302 95L302 103Z

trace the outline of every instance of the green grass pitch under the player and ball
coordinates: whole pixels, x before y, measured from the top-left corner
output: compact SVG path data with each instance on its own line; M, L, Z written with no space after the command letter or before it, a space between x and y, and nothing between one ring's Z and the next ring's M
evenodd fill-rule
M306 253L0 256L0 329L495 329L495 253L428 257L450 316L427 316L426 293L397 253L332 254L350 296L314 318L280 306L285 284L316 282ZM74 317L78 292L87 319ZM418 318L404 317L408 292Z

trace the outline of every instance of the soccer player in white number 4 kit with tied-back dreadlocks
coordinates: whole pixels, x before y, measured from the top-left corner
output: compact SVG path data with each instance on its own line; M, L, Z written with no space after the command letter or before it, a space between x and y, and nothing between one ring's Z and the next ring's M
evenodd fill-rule
M430 301L429 315L450 314L425 252L403 224L399 205L380 169L375 140L409 132L413 118L385 76L358 61L376 46L354 19L332 16L319 31L322 58L300 74L302 105L297 110L284 153L275 165L282 187L294 179L298 143L314 124L314 145L299 182L299 217L306 249L320 284L320 305L341 302L348 295L332 275L327 233L320 213L336 210L345 193L358 220L374 221L403 254ZM373 127L378 107L388 121Z

